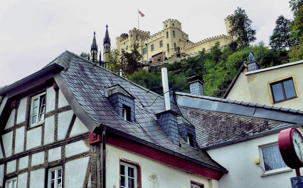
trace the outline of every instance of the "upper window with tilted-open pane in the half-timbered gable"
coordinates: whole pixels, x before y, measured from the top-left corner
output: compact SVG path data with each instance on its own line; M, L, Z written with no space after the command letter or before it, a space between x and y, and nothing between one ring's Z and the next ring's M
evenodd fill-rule
M44 113L45 113L45 92L32 97L31 112L29 118L30 127L43 123Z

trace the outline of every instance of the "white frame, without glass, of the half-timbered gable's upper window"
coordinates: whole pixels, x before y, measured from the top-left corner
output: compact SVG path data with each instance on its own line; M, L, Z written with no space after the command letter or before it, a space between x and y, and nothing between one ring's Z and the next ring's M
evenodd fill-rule
M44 96L43 96L44 95ZM41 99L43 100L44 98L44 112L41 112L41 107L42 107L42 101ZM36 123L32 123L32 118L33 118L33 109L34 109L34 101L38 99L38 110L37 110L37 120L36 120ZM34 127L34 126L37 126L37 125L40 125L41 123L44 122L44 117L45 117L45 104L46 104L46 96L45 96L45 92L43 93L40 93L39 95L36 95L36 96L33 96L32 97L32 100L31 100L31 111L30 111L30 115L29 115L29 125L30 127ZM43 119L41 121L39 121L40 119L40 116L43 114Z

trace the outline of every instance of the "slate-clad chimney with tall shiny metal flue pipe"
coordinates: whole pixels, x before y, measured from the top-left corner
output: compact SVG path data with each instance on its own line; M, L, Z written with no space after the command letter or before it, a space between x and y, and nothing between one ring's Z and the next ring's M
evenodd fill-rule
M162 84L164 93L164 112L156 114L157 123L164 131L168 139L170 139L174 144L180 145L179 142L179 132L178 132L178 120L177 113L170 109L170 99L169 99L169 89L168 89L168 78L167 69L162 68ZM166 92L166 93L165 93Z

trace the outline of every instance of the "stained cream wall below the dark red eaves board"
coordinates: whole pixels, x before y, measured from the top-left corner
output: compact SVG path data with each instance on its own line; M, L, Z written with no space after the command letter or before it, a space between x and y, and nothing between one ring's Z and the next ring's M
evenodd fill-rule
M120 158L139 163L141 167L142 187L190 187L190 181L203 183L205 188L210 188L209 180L187 173L182 170L167 166L144 156L106 144L106 186L120 187L119 161ZM234 186L232 186L234 187Z

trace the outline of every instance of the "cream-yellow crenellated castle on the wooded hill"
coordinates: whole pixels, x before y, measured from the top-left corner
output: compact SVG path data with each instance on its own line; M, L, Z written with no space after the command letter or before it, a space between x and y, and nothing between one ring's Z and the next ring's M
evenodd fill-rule
M231 15L232 16L232 15ZM228 17L224 19L227 33L230 30ZM196 56L203 49L208 51L215 42L219 41L224 47L235 40L228 35L218 35L199 42L191 42L188 34L182 31L181 22L176 19L168 19L163 22L163 30L150 35L150 32L133 28L128 34L122 33L116 38L117 49L131 52L134 45L138 45L138 51L143 56L143 62L151 62L150 65L163 63L163 60L176 58L188 58ZM176 59L177 60L177 59Z

